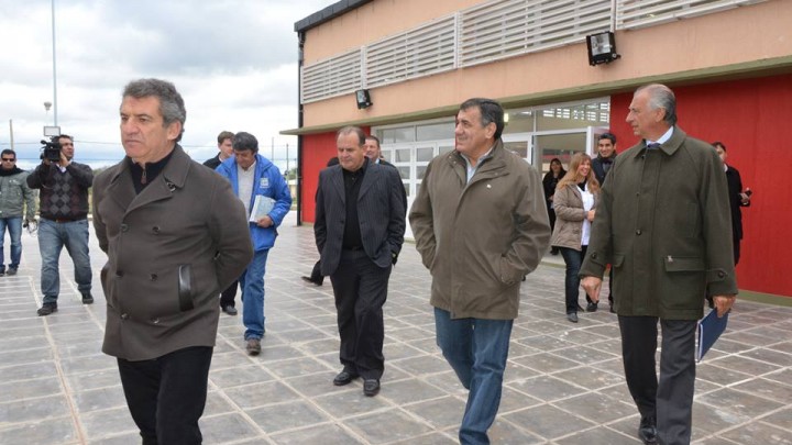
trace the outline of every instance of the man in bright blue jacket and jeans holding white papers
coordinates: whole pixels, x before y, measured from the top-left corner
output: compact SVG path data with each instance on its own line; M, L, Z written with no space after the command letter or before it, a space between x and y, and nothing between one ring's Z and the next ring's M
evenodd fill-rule
M233 138L234 156L226 159L217 171L228 178L249 215L255 254L240 277L242 287L242 322L245 325L245 349L261 353L264 336L264 272L270 248L275 245L277 226L292 208L292 193L280 170L258 154L258 141L250 133L239 132Z

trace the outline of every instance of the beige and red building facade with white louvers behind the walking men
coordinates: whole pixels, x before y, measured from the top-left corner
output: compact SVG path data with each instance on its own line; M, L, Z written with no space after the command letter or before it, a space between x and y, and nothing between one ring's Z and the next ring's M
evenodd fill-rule
M625 123L632 91L662 82L676 93L680 126L724 142L755 192L741 293L792 297L782 272L792 263L791 22L787 0L339 1L295 24L299 127L283 133L299 136L300 222L314 220L319 170L343 125L380 136L411 202L428 162L453 149L468 98L501 101L507 146L546 171L552 157L593 153L605 131L618 152L636 144ZM586 36L604 32L620 57L591 66ZM371 105L360 108L361 90Z

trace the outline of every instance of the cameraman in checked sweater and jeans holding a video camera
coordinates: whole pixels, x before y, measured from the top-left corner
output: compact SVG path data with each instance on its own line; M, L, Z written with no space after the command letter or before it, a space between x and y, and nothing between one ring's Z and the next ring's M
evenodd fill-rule
M38 251L42 257L41 288L44 299L38 315L57 312L61 291L58 258L66 246L75 266L75 281L82 304L91 304L91 267L88 256L88 189L94 171L72 160L74 138L62 134L46 143L42 163L30 176L28 186L40 189ZM55 152L59 159L55 160Z

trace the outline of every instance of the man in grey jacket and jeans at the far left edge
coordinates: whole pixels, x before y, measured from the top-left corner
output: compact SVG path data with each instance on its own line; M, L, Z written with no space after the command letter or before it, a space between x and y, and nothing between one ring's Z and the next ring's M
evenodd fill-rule
M0 166L0 277L16 275L22 259L22 214L26 221L35 219L35 192L28 187L28 171L16 167L16 153L13 149L2 151ZM3 240L6 227L11 238L11 260L6 268Z

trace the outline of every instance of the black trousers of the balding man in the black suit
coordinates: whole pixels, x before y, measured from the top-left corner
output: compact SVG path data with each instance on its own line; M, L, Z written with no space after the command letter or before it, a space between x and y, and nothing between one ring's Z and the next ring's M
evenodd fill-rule
M374 264L364 251L343 251L330 276L344 370L364 379L380 379L385 370L383 305L387 299L391 267Z

